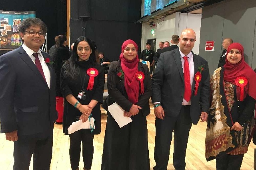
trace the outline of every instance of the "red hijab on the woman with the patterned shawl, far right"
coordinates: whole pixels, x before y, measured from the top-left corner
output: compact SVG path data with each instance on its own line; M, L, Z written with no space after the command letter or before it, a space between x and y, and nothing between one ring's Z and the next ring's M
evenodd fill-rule
M244 87L244 98L246 94L248 94L256 100L256 73L244 61L244 47L240 43L230 44L227 49L227 56L232 49L238 49L242 55L242 59L236 64L231 64L227 59L228 57L226 57L226 64L224 64L224 80L236 85L235 80L238 76L246 77L248 84ZM240 88L236 88L236 96L240 96Z

